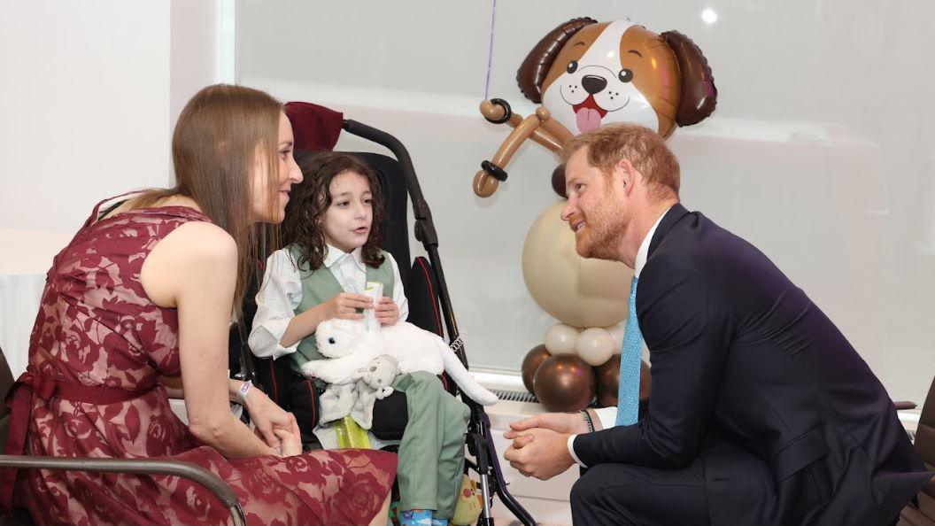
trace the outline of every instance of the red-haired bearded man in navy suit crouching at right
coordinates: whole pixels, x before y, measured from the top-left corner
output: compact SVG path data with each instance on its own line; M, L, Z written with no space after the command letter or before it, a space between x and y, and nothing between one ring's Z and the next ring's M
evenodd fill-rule
M511 465L541 479L587 467L571 510L588 526L893 523L932 474L825 314L679 204L678 161L652 131L598 128L565 160L578 253L635 270L639 328L625 342L642 333L653 394L630 425L614 426L616 408L513 423Z

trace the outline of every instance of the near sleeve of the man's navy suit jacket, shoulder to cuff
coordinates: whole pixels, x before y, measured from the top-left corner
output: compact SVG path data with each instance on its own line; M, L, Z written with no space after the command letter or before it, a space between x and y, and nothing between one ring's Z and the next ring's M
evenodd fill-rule
M651 259L637 287L640 331L653 362L649 411L634 425L579 435L574 449L587 466L682 468L698 456L708 431L735 322L721 292L676 257Z

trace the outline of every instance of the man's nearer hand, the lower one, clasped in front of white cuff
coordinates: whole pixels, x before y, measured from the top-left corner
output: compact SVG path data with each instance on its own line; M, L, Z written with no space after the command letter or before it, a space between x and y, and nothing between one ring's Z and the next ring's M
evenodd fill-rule
M503 458L521 474L548 480L574 465L568 453L568 433L536 428L515 434Z

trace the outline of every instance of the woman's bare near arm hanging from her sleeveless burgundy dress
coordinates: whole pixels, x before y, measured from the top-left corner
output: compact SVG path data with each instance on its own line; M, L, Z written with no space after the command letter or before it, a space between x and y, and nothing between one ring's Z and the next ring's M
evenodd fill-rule
M177 307L182 388L189 430L228 458L272 454L230 410L227 337L237 245L218 226L192 222L152 249L140 271L157 305Z

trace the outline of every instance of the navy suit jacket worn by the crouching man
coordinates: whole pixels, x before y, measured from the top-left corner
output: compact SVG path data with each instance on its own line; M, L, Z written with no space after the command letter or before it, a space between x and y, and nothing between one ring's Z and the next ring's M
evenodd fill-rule
M932 475L827 316L701 213L666 213L636 303L649 409L579 435L585 465L680 469L700 457L713 526L886 525Z

